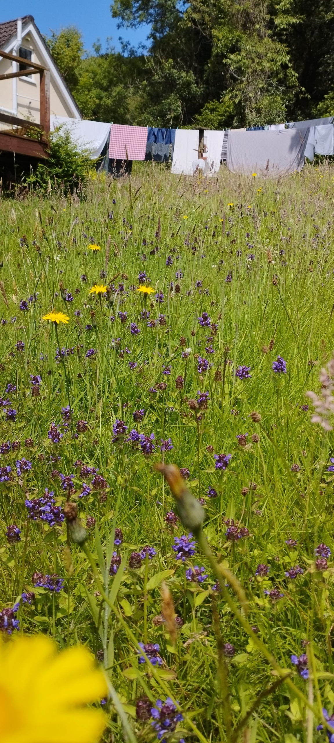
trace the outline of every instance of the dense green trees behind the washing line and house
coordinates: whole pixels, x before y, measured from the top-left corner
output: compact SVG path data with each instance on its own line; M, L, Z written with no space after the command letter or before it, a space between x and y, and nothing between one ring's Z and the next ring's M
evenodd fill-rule
M255 126L334 113L334 0L114 0L148 49L47 39L86 118L147 126Z

